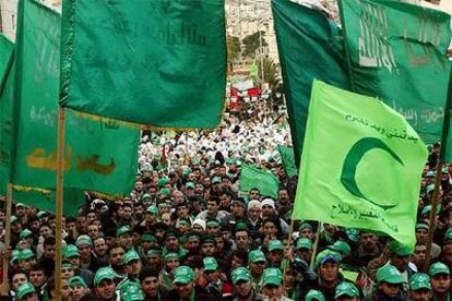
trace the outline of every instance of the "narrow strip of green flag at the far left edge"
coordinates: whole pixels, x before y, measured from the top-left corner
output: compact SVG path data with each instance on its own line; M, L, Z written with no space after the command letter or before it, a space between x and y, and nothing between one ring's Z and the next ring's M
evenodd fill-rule
M0 195L9 183L14 44L0 34Z

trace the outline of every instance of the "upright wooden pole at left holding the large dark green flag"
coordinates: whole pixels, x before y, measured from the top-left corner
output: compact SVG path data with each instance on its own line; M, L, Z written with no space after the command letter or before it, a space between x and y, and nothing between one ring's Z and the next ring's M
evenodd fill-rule
M61 300L61 260L62 260L62 208L64 176L64 108L58 109L58 146L57 146L57 202L56 215L56 256L55 256L55 291L57 300Z

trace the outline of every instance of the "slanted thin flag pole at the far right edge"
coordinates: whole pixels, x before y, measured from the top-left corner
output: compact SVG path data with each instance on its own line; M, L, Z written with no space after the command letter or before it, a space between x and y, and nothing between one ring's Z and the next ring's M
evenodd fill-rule
M433 232L435 232L435 224L437 220L437 207L438 207L438 200L439 200L439 188L441 184L441 176L442 176L442 167L444 165L444 157L445 150L448 147L448 135L449 135L449 127L451 123L451 101L452 101L452 72L449 74L449 87L448 87L448 98L445 103L445 110L444 110L444 122L442 125L442 136L441 136L441 147L439 153L439 161L437 165L437 174L435 177L435 190L431 200L431 212L428 225L428 239L427 239L427 254L426 254L426 263L424 266L425 270L428 270L428 266L430 264L430 253L431 253L431 244L433 243Z

